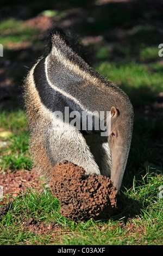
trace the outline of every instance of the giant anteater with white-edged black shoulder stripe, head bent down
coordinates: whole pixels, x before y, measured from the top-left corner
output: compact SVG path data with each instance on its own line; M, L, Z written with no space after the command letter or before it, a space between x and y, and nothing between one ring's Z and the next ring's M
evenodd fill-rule
M30 152L37 173L45 176L46 182L51 179L52 167L66 159L83 167L87 175L111 176L119 190L133 132L133 106L120 88L77 52L65 33L53 28L48 55L41 57L26 77ZM65 107L92 117L95 111L111 111L111 134L103 137L100 130L78 130L57 118L54 113L61 111L64 116Z

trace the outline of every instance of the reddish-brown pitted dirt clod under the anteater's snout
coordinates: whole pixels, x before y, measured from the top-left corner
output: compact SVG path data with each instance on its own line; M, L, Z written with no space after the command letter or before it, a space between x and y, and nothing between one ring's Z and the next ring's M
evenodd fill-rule
M117 190L103 175L85 175L82 167L64 160L52 169L50 188L60 200L60 213L71 220L108 218L116 209Z

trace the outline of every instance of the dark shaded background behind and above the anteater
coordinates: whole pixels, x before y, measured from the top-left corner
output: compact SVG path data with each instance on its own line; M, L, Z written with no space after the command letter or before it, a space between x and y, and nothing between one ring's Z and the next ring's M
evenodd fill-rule
M42 13L45 10L53 10L54 13L51 11L50 15L45 15ZM135 109L133 141L124 186L131 186L131 176L134 177L140 169L145 172L147 168L151 172L161 170L163 80L160 77L163 57L158 56L158 45L163 43L161 0L1 0L0 26L8 19L21 21L15 26L25 25L27 29L23 27L19 33L18 27L3 29L4 33L0 35L0 43L9 38L5 42L4 57L0 59L2 110L10 112L14 108L23 108L23 78L45 51L47 29L51 25L71 29L85 46L91 46L92 65L101 71L103 63L110 63L117 74L120 70L119 73L125 77L116 80L113 74L115 82L129 95ZM16 37L19 39L14 42ZM114 70L104 70L103 74L110 78L111 72ZM150 86L146 79L138 82L144 75L148 83L152 78Z

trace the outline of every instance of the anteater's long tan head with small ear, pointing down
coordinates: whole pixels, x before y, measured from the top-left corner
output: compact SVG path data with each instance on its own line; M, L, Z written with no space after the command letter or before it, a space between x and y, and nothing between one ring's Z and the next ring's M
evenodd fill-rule
M128 159L133 133L133 106L130 102L121 109L111 107L111 132L109 147L111 153L111 180L120 190L124 170Z

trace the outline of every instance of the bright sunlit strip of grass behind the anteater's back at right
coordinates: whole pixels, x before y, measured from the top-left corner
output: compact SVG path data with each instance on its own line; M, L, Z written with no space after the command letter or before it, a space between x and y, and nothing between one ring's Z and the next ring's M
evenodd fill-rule
M103 62L97 64L96 68L102 75L115 81L120 86L123 83L131 88L146 86L160 92L163 90L163 79L160 72L156 70L149 71L145 64Z

